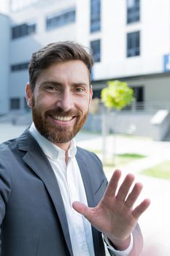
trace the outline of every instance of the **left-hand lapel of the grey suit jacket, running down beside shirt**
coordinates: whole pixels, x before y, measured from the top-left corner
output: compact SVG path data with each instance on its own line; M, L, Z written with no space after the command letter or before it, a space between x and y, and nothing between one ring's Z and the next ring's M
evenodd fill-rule
M55 173L53 172L50 163L47 161L42 148L39 147L38 143L36 143L36 140L34 140L28 130L26 130L26 132L24 132L23 135L21 135L18 139L18 147L22 151L27 151L23 157L23 161L26 162L26 164L31 167L34 173L36 173L36 175L39 176L39 178L41 178L41 180L44 182L45 187L47 188L47 191L53 200L58 218L60 219L63 236L65 237L69 253L73 256L66 212L63 206L63 200L58 186L58 181L55 178Z

